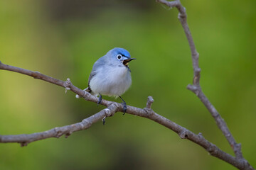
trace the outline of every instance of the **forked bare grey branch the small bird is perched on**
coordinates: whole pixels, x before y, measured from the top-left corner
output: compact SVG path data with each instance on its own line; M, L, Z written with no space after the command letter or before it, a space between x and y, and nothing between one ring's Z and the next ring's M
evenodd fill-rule
M79 96L83 96L83 98L85 98L86 101L92 101L97 103L97 97L92 96L86 91L82 91L81 89L78 89L78 87L74 86L71 83L70 79L68 79L67 81L61 81L58 79L54 79L52 77L48 77L45 74L41 74L39 72L33 72L28 69L21 69L18 67L9 66L1 62L0 62L0 69L6 69L12 72L26 74L28 76L36 77L37 79L47 81L51 84L63 86L65 89L68 88L71 91L73 91L75 94L78 94ZM178 125L172 122L171 120L164 118L163 116L155 113L151 109L151 104L153 103L153 101L154 99L151 96L149 96L148 101L146 103L146 108L143 108L143 109L136 108L133 106L127 106L127 113L148 118L150 120L154 120L156 123L164 125L166 128L169 128L170 130L173 130L174 132L176 132L182 139L191 140L192 142L206 149L206 151L209 152L210 155L212 155L213 157L218 157L219 159L222 159L223 161L228 162L229 164L232 164L238 169L253 169L252 166L250 166L250 164L248 164L245 159L238 159L236 157L231 156L230 154L223 152L216 145L206 140L201 134L196 135L193 132L187 130L186 128L183 128L181 125ZM73 132L90 128L90 126L93 123L96 123L97 121L102 120L102 118L110 117L117 112L122 112L121 103L102 100L101 104L104 106L107 106L107 108L100 111L99 113L96 113L95 115L90 116L89 118L82 120L81 123L66 125L60 128L53 128L45 132L38 132L38 133L29 134L29 135L26 135L26 134L0 135L0 142L2 143L18 142L21 144L21 146L26 146L30 142L33 142L36 140L43 140L49 137L60 137L62 135L66 135L66 137L68 137Z

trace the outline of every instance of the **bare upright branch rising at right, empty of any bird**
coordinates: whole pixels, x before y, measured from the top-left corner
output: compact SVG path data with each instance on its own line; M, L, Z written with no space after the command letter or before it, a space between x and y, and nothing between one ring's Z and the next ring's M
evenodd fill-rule
M188 39L188 44L189 47L191 48L191 57L192 57L192 62L193 62L193 85L188 84L187 89L193 91L198 98L202 101L204 106L208 109L210 114L213 116L215 119L215 122L218 125L218 128L223 132L223 135L225 135L225 138L228 140L230 146L232 147L233 151L235 152L235 157L238 159L243 159L242 157L242 151L241 151L241 145L235 142L235 138L231 134L230 130L228 129L228 125L225 123L223 118L221 118L220 114L218 111L215 109L215 107L210 103L208 98L206 97L205 94L203 94L203 91L200 86L200 72L201 69L199 68L198 64L198 57L199 54L196 51L196 46L195 43L193 42L193 38L191 35L191 32L188 28L188 23L186 22L186 9L181 5L181 1L176 0L176 1L166 1L166 0L157 0L161 4L165 4L166 6L170 7L176 7L178 8L178 19L181 21L181 25L183 27L183 30L186 34L186 38Z

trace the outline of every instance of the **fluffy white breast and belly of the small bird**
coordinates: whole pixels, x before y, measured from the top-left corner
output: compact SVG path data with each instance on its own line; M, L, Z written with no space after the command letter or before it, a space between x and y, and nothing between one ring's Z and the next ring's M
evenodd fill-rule
M131 73L122 65L100 68L90 80L90 89L95 95L121 96L132 84Z

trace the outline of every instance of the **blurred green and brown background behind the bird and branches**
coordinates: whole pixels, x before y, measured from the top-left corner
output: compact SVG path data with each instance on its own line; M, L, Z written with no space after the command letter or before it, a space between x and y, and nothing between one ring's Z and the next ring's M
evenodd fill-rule
M256 1L181 1L200 53L201 86L256 167ZM0 1L0 60L87 86L92 64L124 47L133 84L122 97L152 108L233 154L210 113L186 89L191 54L176 9L155 1ZM80 122L103 106L59 86L0 70L0 134ZM105 97L107 98L107 97ZM114 98L107 98L114 100ZM119 99L117 99L120 102ZM235 169L145 118L116 113L106 125L27 147L0 144L0 169Z

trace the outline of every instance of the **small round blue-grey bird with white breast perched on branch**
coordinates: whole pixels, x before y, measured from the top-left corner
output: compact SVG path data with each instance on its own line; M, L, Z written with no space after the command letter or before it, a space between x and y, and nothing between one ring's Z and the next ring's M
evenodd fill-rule
M115 47L93 64L88 80L88 87L84 91L93 96L100 96L97 104L102 101L102 95L119 97L124 94L132 84L131 70L128 67L131 58L124 48ZM76 95L76 98L80 98ZM122 99L123 113L127 104Z

